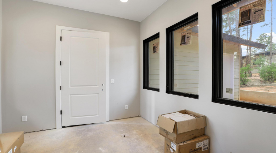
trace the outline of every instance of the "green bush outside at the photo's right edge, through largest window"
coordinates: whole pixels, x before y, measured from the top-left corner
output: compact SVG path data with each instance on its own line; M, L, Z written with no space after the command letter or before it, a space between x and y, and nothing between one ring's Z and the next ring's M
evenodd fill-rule
M274 82L276 80L276 63L263 66L263 68L259 70L259 73L260 78L264 81Z

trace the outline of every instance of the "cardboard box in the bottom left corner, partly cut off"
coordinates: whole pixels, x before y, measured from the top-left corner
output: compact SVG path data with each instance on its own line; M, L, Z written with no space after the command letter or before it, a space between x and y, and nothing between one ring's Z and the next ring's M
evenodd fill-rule
M1 153L20 153L20 147L23 143L23 131L0 134Z

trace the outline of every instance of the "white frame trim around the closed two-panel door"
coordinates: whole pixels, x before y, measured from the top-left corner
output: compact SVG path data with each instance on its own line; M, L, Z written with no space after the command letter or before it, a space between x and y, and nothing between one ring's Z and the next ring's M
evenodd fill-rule
M71 28L71 27L63 27L56 26L56 129L61 129L61 30L71 30L71 31L79 31L79 32L93 32L93 33L102 33L106 35L106 121L109 121L109 32L101 32L87 29L79 29L79 28Z

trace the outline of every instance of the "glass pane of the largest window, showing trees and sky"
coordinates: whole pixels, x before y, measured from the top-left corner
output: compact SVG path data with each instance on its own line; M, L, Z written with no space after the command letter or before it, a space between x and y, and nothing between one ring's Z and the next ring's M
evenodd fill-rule
M276 106L275 17L272 0L222 9L223 98Z

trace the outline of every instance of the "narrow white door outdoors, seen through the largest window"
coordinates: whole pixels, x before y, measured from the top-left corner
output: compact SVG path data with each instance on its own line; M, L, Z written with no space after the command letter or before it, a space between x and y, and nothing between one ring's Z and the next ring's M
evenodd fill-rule
M232 88L233 93L226 93L226 88ZM234 55L223 54L223 98L234 99Z

